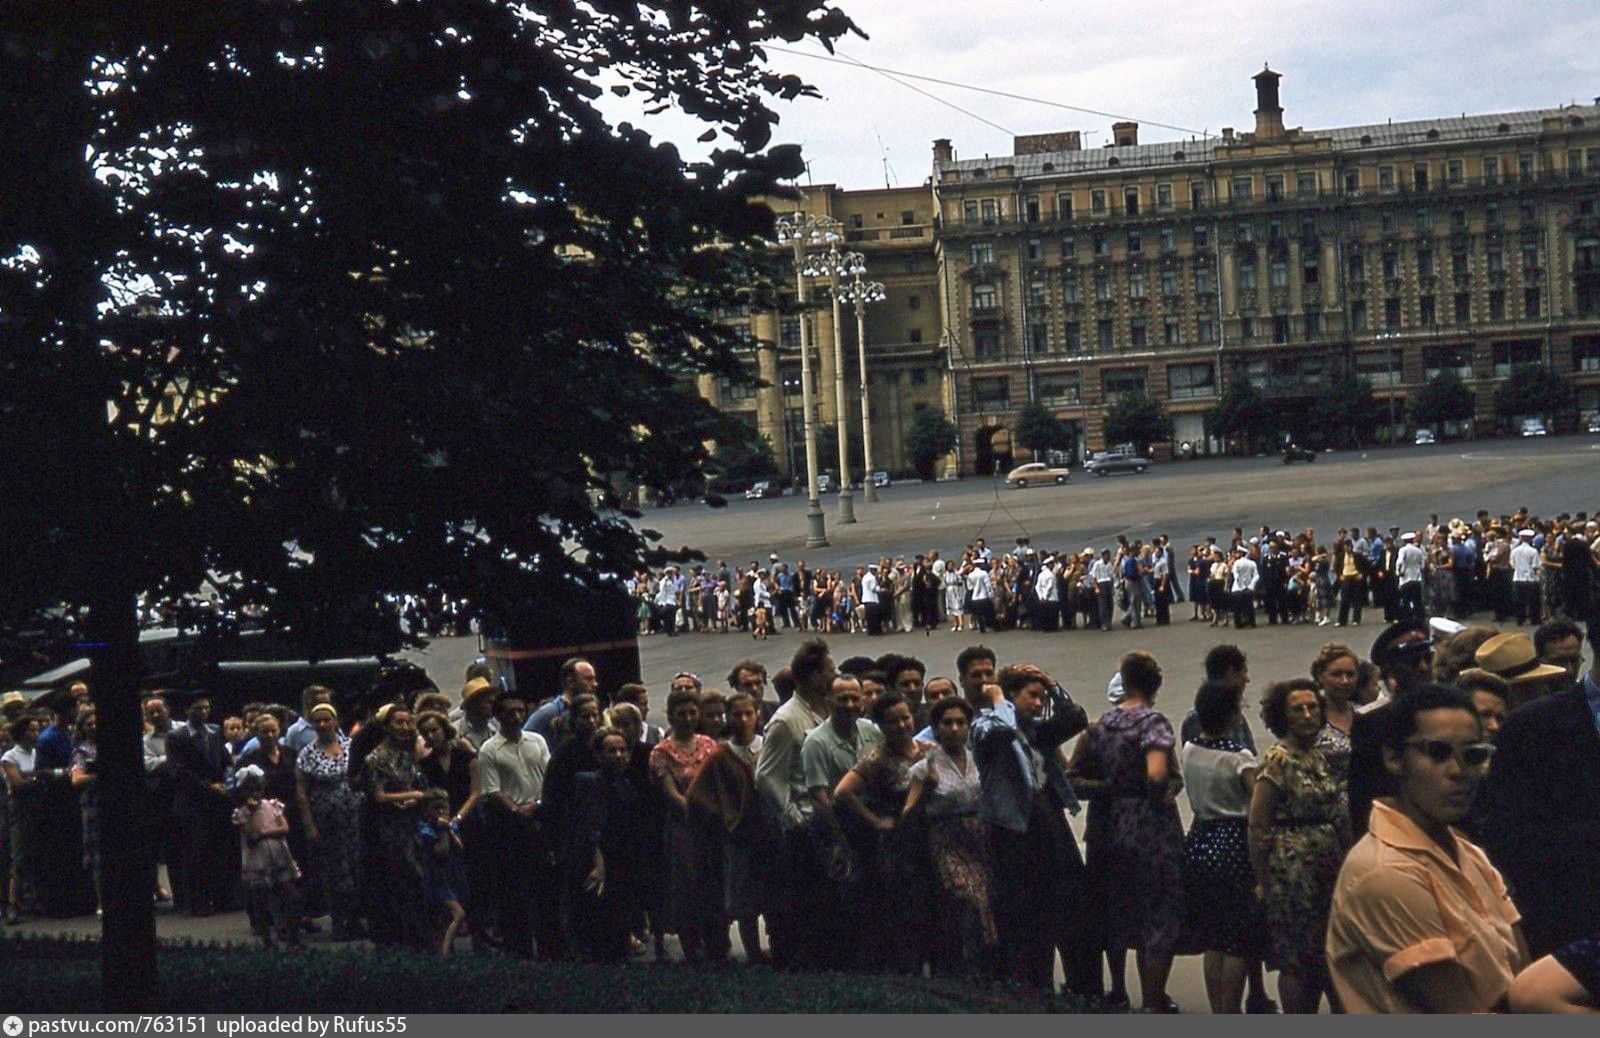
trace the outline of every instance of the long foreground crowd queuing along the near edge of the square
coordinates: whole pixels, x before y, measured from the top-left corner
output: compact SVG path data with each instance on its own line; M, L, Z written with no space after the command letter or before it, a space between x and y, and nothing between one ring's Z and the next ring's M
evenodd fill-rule
M1590 651L1595 645L1590 627ZM1245 717L1218 645L1166 713L1160 662L1122 657L1091 718L1042 669L963 649L835 665L810 637L768 678L678 673L549 697L482 665L459 697L416 669L347 702L211 720L144 701L166 865L150 896L243 904L264 942L448 955L666 955L1006 980L1155 1012L1203 956L1219 1012L1600 1004L1600 685L1568 619L1525 632L1402 617L1365 656L1330 641ZM778 702L766 697L771 681ZM1192 701L1192 709L1190 707ZM96 833L94 707L0 702L6 920L94 900L138 854ZM181 710L182 721L173 721ZM1067 750L1070 744L1070 752ZM1192 822L1178 809L1187 798ZM1086 811L1083 846L1069 816ZM763 942L765 924L765 942ZM1264 971L1278 974L1277 1000Z

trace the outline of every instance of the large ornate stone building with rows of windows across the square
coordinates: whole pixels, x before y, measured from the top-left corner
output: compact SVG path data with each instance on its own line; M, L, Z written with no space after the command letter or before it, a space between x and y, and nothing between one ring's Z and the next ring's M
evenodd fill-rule
M1600 99L1301 130L1283 125L1278 74L1254 83L1248 133L1139 144L1118 123L1101 149L1037 134L965 160L936 141L928 187L808 192L888 286L867 323L878 467L906 467L899 438L920 406L957 421L962 473L1010 464L1030 403L1099 449L1107 403L1130 390L1162 400L1174 440L1203 453L1218 446L1203 414L1234 381L1315 406L1338 371L1392 403L1381 435L1403 433L1408 395L1442 371L1472 389L1480 427L1525 363L1600 411ZM803 457L797 334L752 325L779 344L755 350L760 373L784 377L784 392L755 392L758 425L781 459Z

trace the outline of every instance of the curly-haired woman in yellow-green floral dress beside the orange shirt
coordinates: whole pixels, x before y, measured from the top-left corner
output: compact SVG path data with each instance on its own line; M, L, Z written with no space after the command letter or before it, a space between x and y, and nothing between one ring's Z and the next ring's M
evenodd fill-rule
M1333 1001L1323 936L1333 886L1350 848L1346 792L1318 747L1326 712L1315 681L1278 681L1261 702L1278 737L1250 800L1250 864L1267 921L1267 961L1280 971L1285 1012Z

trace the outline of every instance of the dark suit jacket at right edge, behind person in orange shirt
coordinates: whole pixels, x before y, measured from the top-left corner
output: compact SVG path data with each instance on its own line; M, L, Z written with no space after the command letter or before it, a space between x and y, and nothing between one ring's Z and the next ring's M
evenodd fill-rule
M1534 956L1600 934L1600 731L1582 685L1506 718L1485 835Z

